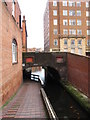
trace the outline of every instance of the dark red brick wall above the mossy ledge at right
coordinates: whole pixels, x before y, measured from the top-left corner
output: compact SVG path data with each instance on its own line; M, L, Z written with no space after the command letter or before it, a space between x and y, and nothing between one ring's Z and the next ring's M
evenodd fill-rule
M80 91L90 97L90 59L88 57L68 54L68 80Z

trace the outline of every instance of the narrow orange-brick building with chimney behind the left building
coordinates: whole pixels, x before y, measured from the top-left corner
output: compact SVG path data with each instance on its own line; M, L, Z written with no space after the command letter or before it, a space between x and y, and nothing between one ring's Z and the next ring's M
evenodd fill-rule
M27 28L25 16L22 20L22 52L27 52Z

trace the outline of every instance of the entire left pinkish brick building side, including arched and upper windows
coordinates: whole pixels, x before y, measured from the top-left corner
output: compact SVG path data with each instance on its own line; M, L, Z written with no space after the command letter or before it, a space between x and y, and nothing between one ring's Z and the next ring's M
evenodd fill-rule
M0 0L0 106L22 84L21 11L18 2Z

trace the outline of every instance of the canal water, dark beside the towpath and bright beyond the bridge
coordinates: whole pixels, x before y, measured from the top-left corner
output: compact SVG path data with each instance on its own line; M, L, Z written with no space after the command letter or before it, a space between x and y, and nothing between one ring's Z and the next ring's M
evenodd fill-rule
M45 81L45 71L37 71L34 74L40 75ZM53 79L49 78L48 80ZM81 106L67 93L67 91L58 83L52 82L45 86L46 94L60 119L71 120L88 120L89 114L84 111Z

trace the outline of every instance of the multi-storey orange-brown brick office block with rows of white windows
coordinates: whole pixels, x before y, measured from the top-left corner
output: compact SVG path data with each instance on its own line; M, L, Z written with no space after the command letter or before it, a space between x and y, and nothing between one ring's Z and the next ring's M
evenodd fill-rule
M89 1L48 0L44 50L90 54Z

